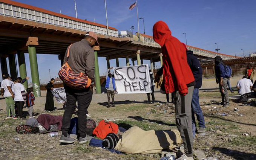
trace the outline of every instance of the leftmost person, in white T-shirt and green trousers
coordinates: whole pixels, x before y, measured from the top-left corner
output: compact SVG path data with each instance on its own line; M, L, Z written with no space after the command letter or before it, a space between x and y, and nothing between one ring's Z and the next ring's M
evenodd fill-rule
M1 83L1 93L5 97L7 118L17 119L14 111L14 93L12 92L13 82L9 74L3 75L4 80Z

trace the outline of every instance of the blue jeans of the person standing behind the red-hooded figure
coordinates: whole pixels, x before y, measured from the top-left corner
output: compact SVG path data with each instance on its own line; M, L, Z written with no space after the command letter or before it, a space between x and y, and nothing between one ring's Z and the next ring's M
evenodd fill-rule
M196 118L198 120L199 127L205 128L204 115L203 115L203 112L202 112L200 104L199 104L198 88L194 88L194 90L193 90L191 108L192 108L192 112L191 112L192 113L192 125L196 124L196 119L195 119L195 114L196 114Z

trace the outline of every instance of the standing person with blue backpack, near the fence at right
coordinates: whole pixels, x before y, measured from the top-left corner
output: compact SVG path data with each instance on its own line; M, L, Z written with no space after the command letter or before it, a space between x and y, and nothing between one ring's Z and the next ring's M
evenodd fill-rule
M219 84L219 91L221 92L221 99L222 99L221 105L223 105L223 107L228 107L229 97L228 97L228 91L227 91L227 83L228 83L227 78L230 78L230 76L228 77L228 73L227 73L228 69L220 56L216 56L214 58L214 62L215 62L215 79L216 79L216 83Z

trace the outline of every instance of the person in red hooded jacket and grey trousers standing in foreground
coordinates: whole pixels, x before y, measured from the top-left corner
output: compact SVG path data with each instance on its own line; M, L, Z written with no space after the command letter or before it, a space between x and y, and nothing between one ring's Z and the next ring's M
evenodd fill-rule
M163 78L166 93L174 92L176 126L181 133L185 157L193 159L193 133L191 121L191 100L195 79L187 63L186 49L182 43L172 36L169 27L158 21L153 27L153 38L162 47ZM159 81L155 76L155 81Z

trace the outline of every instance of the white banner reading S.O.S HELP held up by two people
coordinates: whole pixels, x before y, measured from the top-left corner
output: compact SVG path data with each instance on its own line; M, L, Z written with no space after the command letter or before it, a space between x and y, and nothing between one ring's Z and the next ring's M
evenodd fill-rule
M114 68L117 93L151 93L147 64Z

